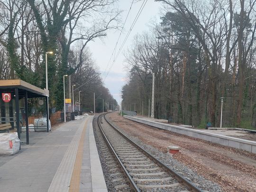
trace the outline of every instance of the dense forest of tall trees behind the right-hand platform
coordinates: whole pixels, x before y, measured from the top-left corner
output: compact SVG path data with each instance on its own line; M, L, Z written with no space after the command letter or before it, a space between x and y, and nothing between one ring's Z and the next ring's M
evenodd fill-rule
M122 108L205 127L256 128L256 0L156 0L160 23L126 52Z

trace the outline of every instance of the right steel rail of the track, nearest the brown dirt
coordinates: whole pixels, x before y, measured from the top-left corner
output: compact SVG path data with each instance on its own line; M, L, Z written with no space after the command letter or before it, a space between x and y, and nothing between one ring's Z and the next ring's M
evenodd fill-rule
M114 125L112 125L107 119L106 119L106 114L104 114L104 118L106 122L113 127L119 134L121 134L124 138L126 138L129 142L131 142L138 150L142 151L149 159L153 160L156 164L158 164L160 167L163 167L169 174L173 175L174 178L176 178L179 182L183 183L186 185L186 187L191 190L192 192L204 192L201 190L199 187L197 187L195 184L184 178L182 175L178 174L174 169L166 165L164 162L160 161L159 159L156 159L153 155L151 155L149 152L146 150L142 149L139 145L137 145L135 142L130 140L126 135L121 133Z

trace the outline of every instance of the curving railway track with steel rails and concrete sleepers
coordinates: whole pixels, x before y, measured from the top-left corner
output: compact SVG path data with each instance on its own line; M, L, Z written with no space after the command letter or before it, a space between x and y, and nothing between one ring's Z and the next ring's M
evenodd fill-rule
M97 119L101 134L133 191L203 192L119 132L105 115Z

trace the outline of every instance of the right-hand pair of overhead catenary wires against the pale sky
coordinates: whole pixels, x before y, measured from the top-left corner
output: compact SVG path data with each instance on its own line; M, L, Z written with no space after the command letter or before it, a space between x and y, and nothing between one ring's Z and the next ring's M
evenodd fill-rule
M135 26L135 24L136 24L136 22L137 22L137 20L138 20L138 17L140 16L140 14L141 14L143 8L144 8L145 5L146 5L146 2L147 2L147 0L144 0L143 3L142 3L142 5L140 6L140 8L139 8L139 10L138 10L138 12L137 12L136 17L134 18L133 23L132 23L132 25L130 26L130 29L129 29L128 33L127 33L127 35L126 35L124 41L122 42L122 44L121 44L121 46L120 46L120 48L119 48L119 51L118 51L116 57L113 59L113 62L112 62L111 66L110 66L110 68L109 68L109 70L108 70L108 72L107 72L107 75L105 75L105 77L104 77L104 80L105 80L105 79L107 78L107 76L109 75L110 69L113 67L113 65L114 65L116 59L118 58L118 56L119 56L119 54L120 54L120 52L121 52L123 46L125 45L125 43L126 43L128 37L129 37L129 34L131 33L133 27ZM113 53L114 53L114 52L113 52ZM112 53L112 55L113 55L113 53ZM112 58L112 55L111 55L111 58ZM111 58L110 58L110 60L111 60ZM109 65L109 64L108 64L108 65Z

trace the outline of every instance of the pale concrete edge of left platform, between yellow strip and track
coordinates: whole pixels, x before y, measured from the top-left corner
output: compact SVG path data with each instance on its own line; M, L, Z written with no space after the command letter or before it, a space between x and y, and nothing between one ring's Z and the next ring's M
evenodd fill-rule
M93 134L92 119L89 128L92 192L108 192Z

